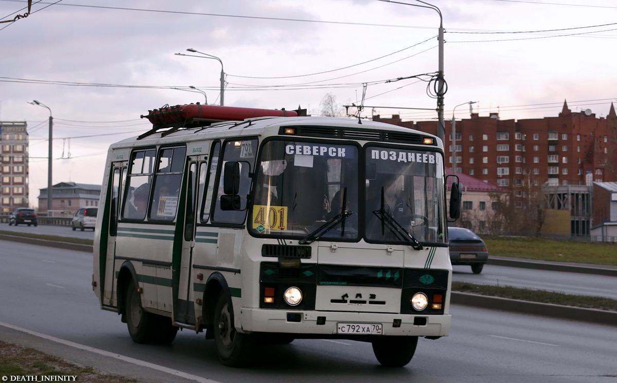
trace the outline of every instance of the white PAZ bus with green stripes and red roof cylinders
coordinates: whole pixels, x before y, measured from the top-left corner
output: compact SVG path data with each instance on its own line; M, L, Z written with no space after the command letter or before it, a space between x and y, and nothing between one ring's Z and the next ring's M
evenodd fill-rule
M260 342L348 339L404 366L448 335L442 141L299 114L165 106L110 146L92 285L134 342L205 332L242 366Z

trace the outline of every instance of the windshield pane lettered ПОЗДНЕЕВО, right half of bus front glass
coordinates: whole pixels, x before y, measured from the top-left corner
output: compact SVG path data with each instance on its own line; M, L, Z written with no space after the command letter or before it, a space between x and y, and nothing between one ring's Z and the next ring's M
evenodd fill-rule
M444 242L441 154L376 146L365 150L366 240L412 246Z

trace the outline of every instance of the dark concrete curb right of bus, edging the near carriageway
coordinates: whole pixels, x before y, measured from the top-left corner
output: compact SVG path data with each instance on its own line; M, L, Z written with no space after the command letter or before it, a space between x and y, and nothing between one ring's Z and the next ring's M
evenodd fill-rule
M450 303L617 326L617 311L552 305L454 291L450 295Z

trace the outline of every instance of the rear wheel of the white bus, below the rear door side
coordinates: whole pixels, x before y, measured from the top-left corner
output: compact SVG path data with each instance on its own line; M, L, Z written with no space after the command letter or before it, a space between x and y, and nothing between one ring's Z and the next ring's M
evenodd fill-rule
M157 321L155 314L144 311L141 307L141 297L131 280L126 288L125 299L126 327L128 334L135 343L151 343L157 335Z

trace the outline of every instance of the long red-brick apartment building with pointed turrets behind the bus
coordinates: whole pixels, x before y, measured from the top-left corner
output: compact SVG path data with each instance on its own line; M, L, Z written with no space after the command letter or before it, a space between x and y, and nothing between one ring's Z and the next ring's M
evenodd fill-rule
M437 122L404 122L397 115L376 121L437 133ZM572 112L558 117L500 120L471 114L456 124L457 172L484 182L522 188L533 185L591 185L617 181L617 114ZM452 123L445 123L446 164L452 164Z

